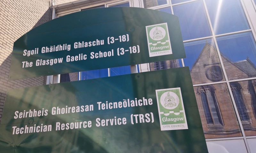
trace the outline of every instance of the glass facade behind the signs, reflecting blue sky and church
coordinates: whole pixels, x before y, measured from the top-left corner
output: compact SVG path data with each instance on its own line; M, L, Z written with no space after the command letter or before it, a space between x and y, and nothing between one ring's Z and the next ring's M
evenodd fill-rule
M256 33L244 0L143 0L142 6L134 1L130 6L179 17L187 56L138 65L138 72L188 66L207 141L236 137L246 144L243 138L256 138ZM126 4L120 3L109 6ZM81 79L129 73L130 66L109 68L82 72Z

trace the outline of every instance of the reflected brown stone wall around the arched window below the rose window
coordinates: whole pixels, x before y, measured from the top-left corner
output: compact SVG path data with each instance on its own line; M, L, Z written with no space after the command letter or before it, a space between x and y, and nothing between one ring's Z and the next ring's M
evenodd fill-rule
M200 88L200 86L194 87L205 139L242 136L232 100L228 94L227 85L214 84L212 86L215 89L214 93L219 104L223 125L208 125L206 123L203 106L200 100L200 95L198 93L198 88Z

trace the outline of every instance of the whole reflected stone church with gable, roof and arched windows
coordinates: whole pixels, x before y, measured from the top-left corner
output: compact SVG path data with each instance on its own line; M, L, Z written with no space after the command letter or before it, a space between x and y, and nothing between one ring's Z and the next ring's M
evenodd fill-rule
M233 62L220 53L228 79L256 76L256 66L247 57L243 61ZM193 84L205 84L225 81L216 47L206 41L190 73ZM179 60L153 62L150 70L180 67ZM242 122L245 135L256 131L256 80L230 82L236 108ZM197 106L206 139L242 136L234 105L226 83L194 86Z

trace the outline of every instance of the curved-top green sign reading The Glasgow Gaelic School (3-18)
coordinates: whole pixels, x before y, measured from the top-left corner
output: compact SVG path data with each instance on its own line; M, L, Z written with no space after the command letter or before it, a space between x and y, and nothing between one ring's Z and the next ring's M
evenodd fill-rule
M186 58L177 16L132 7L80 11L14 42L9 79Z

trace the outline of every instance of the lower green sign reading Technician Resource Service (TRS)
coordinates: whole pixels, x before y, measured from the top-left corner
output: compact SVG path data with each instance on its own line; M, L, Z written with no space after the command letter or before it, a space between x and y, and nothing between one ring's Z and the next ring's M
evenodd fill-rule
M188 67L9 90L1 153L207 153Z

